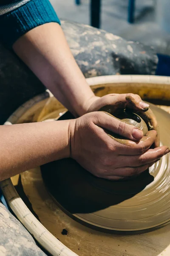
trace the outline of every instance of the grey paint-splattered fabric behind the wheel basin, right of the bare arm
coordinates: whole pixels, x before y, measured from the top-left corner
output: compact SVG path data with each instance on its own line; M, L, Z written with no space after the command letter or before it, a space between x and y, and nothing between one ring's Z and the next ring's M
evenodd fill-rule
M71 51L85 77L116 74L154 75L153 47L70 21L61 21Z

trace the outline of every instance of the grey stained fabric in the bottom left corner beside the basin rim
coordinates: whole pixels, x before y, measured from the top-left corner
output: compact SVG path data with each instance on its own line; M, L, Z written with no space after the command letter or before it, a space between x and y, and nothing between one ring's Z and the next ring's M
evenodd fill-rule
M1 203L0 256L46 256L20 221Z

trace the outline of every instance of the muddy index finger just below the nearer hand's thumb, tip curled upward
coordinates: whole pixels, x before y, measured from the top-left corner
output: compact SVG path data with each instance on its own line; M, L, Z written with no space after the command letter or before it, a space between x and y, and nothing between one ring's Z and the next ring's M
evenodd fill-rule
M116 150L119 155L141 155L153 145L156 131L148 131L146 136L138 142L132 140L116 140Z

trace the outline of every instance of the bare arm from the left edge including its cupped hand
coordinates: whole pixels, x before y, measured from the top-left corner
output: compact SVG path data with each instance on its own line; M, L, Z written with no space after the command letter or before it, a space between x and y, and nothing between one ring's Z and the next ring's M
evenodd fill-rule
M72 120L0 126L0 180L65 157L98 177L121 179L138 175L170 151L167 146L149 149L156 131L144 137L141 131L142 139L132 141L136 128L126 123L118 129L130 139L125 144L106 134L115 133L121 123L98 111Z

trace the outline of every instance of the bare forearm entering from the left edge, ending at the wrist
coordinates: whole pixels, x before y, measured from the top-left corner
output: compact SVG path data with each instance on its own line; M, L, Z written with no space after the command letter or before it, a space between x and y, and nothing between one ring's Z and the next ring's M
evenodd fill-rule
M69 157L69 122L0 126L0 180Z

